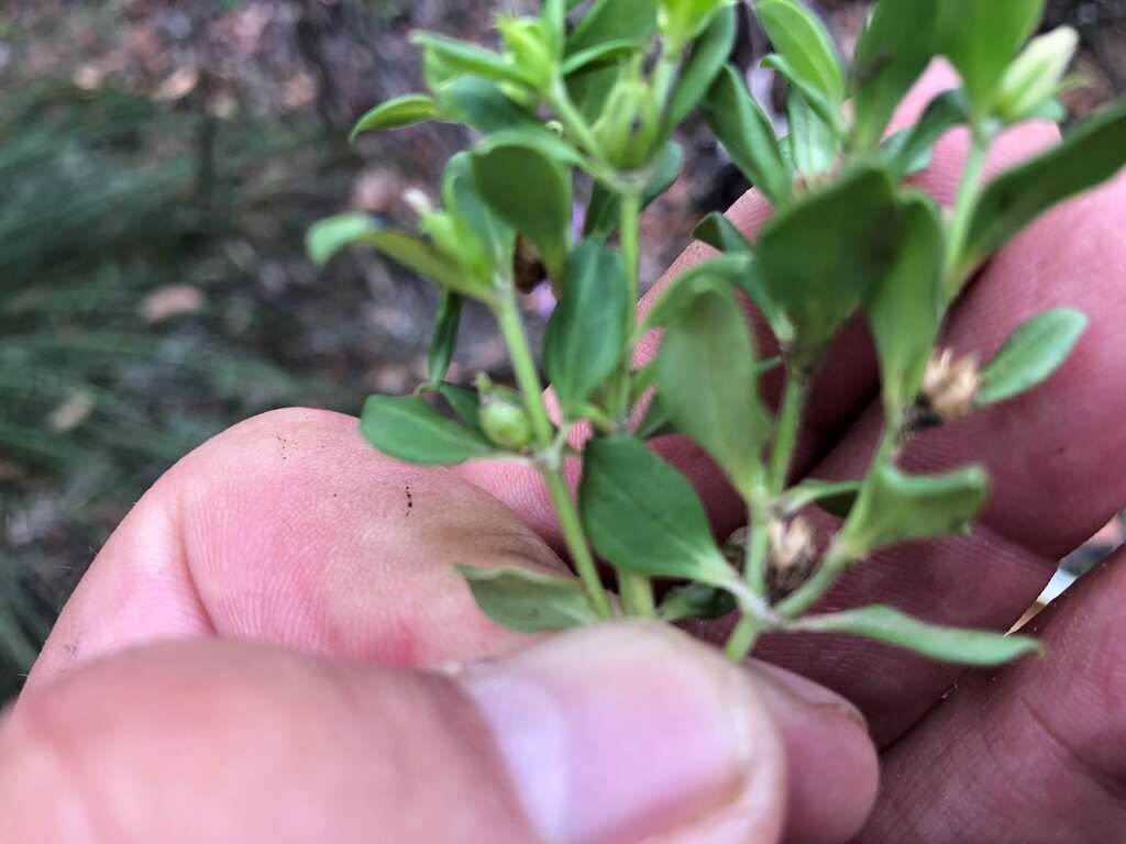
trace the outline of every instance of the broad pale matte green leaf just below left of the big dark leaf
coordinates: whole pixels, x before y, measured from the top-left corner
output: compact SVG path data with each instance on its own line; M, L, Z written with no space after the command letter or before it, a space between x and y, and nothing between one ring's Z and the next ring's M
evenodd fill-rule
M729 295L705 293L665 331L658 357L661 406L748 494L767 434L747 318Z

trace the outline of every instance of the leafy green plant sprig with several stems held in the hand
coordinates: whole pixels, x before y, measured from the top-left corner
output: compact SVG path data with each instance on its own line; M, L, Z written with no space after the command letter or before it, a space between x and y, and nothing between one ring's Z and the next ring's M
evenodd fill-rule
M1075 35L1029 41L1043 6L881 0L848 69L808 9L758 0L753 12L776 51L763 63L788 88L785 137L727 64L738 11L729 0L544 0L537 17L498 18L495 50L414 36L429 93L383 104L356 133L444 120L467 124L477 140L449 162L437 198L415 201L417 233L347 215L316 225L309 245L324 262L365 244L441 289L429 379L412 396L372 396L364 407L363 432L376 448L426 465L509 458L543 476L578 578L462 569L490 618L538 631L738 612L727 644L736 659L766 631L849 634L980 665L1037 649L1020 636L935 627L888 607L814 608L874 551L971 528L988 496L985 473L909 474L897 466L904 443L1035 388L1083 332L1082 314L1057 309L1020 326L982 366L937 348L950 304L994 252L1126 163L1126 108L1116 106L984 181L998 133L1062 115L1056 96ZM949 60L962 87L888 136L893 113L936 56ZM774 215L753 244L724 217L704 219L696 236L720 254L638 320L638 217L676 179L682 153L673 132L697 109ZM972 142L944 213L908 177L956 126ZM579 234L575 196L589 196ZM521 291L540 282L558 297L539 358L551 406L519 307ZM772 329L778 356L763 359L744 297ZM473 390L445 383L464 299L495 314L518 389L483 377ZM857 313L881 365L882 441L863 478L792 485L811 378ZM635 367L651 331L663 332L660 352ZM785 369L777 410L762 392L776 367ZM578 451L580 425L593 436ZM703 447L745 502L749 527L734 541L713 537L689 482L646 445L671 431ZM577 494L564 479L568 460L581 461ZM842 520L821 541L803 515L814 506ZM616 598L598 559L614 572Z

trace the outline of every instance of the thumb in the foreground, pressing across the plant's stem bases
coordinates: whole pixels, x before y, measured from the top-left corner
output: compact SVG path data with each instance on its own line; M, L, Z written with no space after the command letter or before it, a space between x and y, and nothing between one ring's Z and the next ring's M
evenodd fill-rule
M784 742L751 677L649 625L444 674L152 646L20 701L0 841L776 842Z

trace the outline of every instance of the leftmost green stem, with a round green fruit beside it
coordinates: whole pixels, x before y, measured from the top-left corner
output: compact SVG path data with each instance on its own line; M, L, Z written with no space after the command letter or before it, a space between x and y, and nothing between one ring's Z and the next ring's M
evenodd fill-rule
M502 294L497 306L497 322L504 342L508 344L517 386L524 395L524 402L531 417L531 430L536 438L536 445L542 452L551 452L554 427L547 415L547 406L544 404L544 387L531 356L528 335L524 330L524 321L520 318L516 294L510 285L507 287L508 289ZM539 472L547 485L547 494L558 517L563 541L566 544L568 553L571 555L579 577L587 590L587 598L600 618L610 618L613 614L610 601L602 586L602 578L598 574L598 566L591 554L590 544L587 541L587 535L582 529L582 520L579 518L574 500L563 478L562 466L554 458L542 460L539 461Z

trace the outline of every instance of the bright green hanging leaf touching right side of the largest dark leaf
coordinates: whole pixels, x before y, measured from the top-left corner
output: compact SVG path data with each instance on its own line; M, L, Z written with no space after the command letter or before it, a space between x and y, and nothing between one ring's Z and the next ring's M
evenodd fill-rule
M911 196L901 206L897 231L899 254L865 304L888 419L918 398L946 311L945 228L938 208L922 195Z

